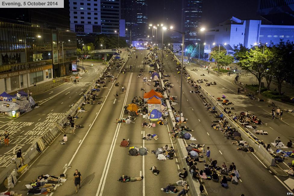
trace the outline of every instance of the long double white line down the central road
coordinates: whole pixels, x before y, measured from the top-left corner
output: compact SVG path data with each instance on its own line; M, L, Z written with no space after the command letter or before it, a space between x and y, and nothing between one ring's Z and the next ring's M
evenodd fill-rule
M132 76L133 76L133 73L131 73L129 83L128 83L128 86L127 86L127 93L126 93L126 96L124 98L124 104L123 104L123 107L122 107L121 112L120 112L120 119L123 116L124 105L126 105L126 103L127 103L127 97L129 95ZM105 102L103 102L103 103L105 103ZM121 126L121 123L118 123L117 127L115 129L114 136L113 136L113 139L112 139L112 142L111 142L111 146L109 148L108 156L107 156L107 159L106 159L106 162L105 162L105 166L104 166L104 169L103 169L103 172L102 172L102 176L101 176L101 179L100 179L100 182L99 182L99 186L98 186L98 189L97 189L97 192L96 192L96 196L98 196L98 195L102 196L102 194L103 194L103 189L104 189L104 186L105 186L105 182L106 182L106 178L107 178L107 174L108 174L108 170L109 170L109 165L111 163L111 158L112 158L112 155L113 155L113 151L114 151L115 143L116 143L116 140L117 140L117 135L118 135L119 130L120 130L120 126ZM100 189L101 189L101 191L100 191ZM100 194L99 194L99 192L100 192Z

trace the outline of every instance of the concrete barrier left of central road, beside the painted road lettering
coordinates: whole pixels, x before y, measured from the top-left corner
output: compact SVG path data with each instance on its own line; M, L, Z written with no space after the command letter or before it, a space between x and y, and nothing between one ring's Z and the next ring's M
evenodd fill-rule
M130 53L128 54L130 55ZM109 62L112 61L113 58L111 58L104 69L100 72L99 76L96 77L99 78L103 75L105 70L109 66ZM92 85L88 88L88 91L91 91L91 89L96 85L96 79L92 83ZM67 111L67 113L64 115L64 118L60 119L57 124L63 126L65 122L67 122L67 116L75 114L78 107L82 105L84 101L84 96L82 96L74 105L70 108L70 110ZM27 151L23 152L22 155L25 159L26 163L29 163L31 160L34 159L40 152L42 152L46 146L50 145L52 141L56 138L56 135L60 130L58 127L52 126L48 131L46 131L43 135L41 135L39 138L36 138L36 140L33 142L33 144L30 146L30 148L27 149ZM16 158L16 156L15 156ZM13 164L10 164L8 167L6 167L1 173L0 173L0 182L4 182L4 180L10 175L10 173L15 169L18 169L18 165L20 165L20 160L17 158L15 159L15 162Z

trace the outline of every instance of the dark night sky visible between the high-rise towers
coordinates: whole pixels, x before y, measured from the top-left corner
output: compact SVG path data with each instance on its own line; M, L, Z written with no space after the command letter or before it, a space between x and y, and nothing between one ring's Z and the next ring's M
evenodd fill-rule
M147 0L147 5L148 23L161 23L164 0ZM231 16L254 19L257 7L257 0L203 0L202 24L206 28L213 27ZM178 11L181 12L181 8Z

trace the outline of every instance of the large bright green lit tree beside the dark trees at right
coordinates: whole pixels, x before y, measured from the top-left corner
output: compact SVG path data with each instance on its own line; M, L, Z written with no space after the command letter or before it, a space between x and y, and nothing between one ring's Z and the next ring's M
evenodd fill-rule
M268 48L265 48L263 53L263 47L258 48L255 46L249 51L246 51L244 56L239 60L239 65L242 69L249 71L257 78L259 87L261 85L261 79L268 68L269 53Z

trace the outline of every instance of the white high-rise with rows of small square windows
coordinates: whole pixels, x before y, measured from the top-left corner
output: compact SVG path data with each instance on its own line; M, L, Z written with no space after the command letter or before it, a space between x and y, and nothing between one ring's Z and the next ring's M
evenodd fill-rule
M77 35L101 34L100 0L70 0L70 29Z

